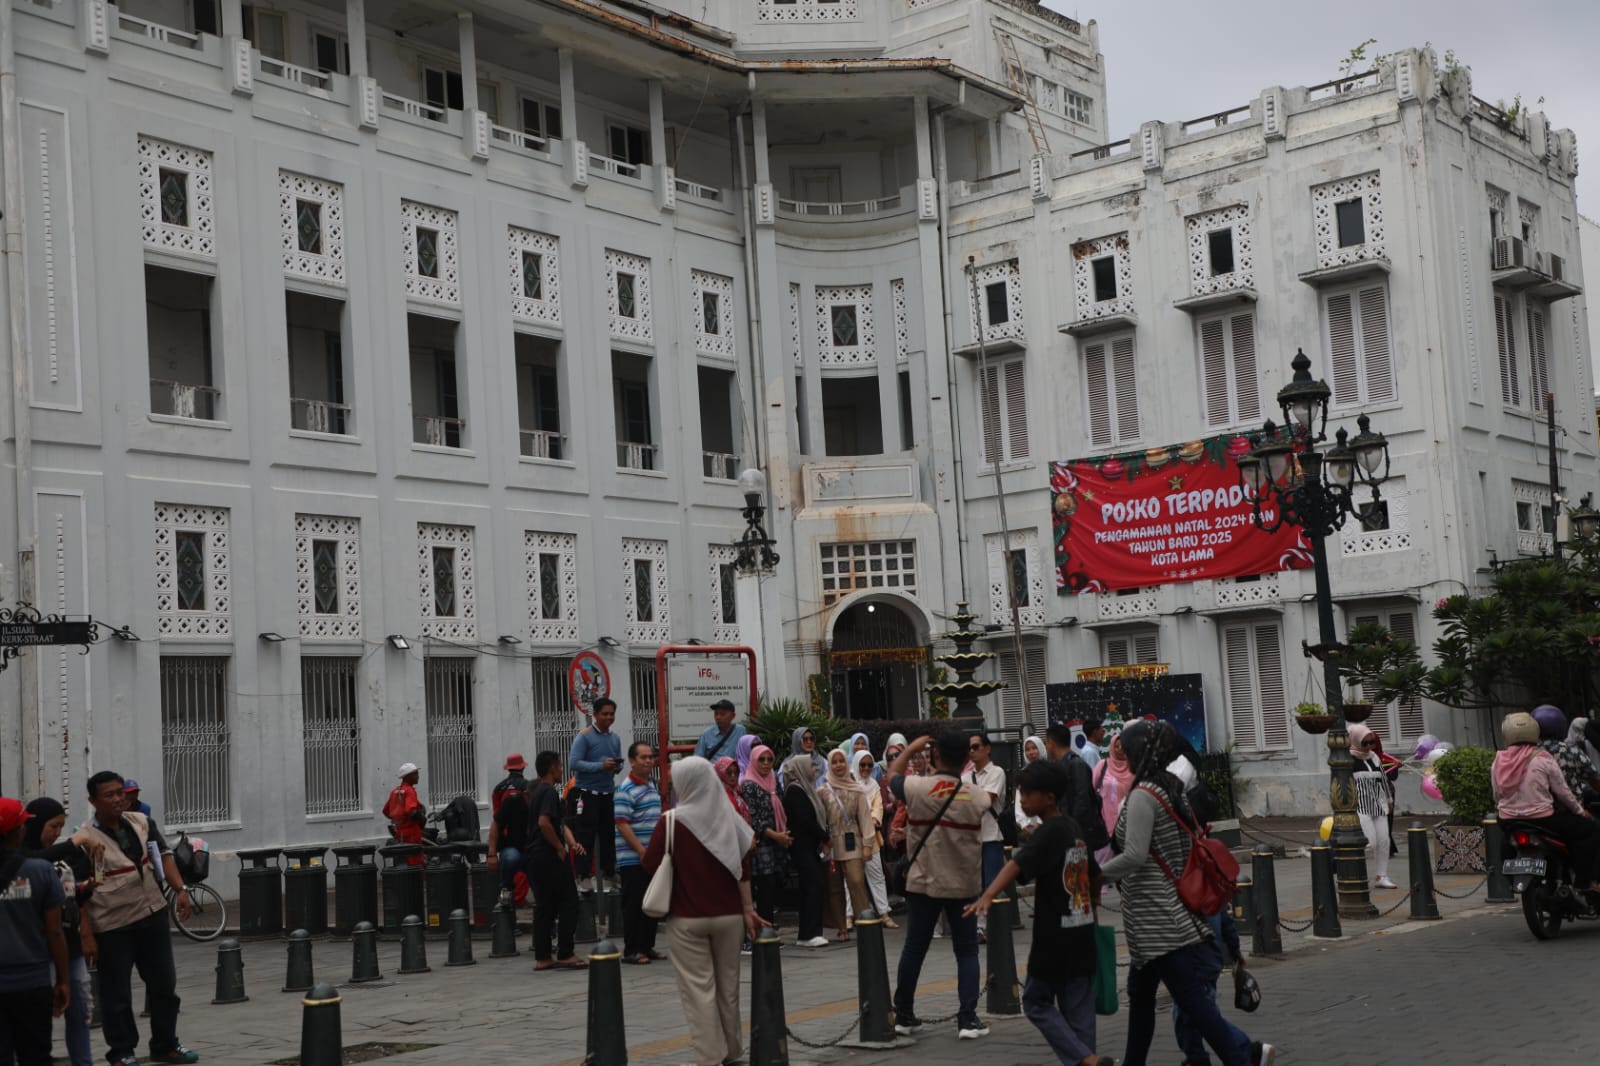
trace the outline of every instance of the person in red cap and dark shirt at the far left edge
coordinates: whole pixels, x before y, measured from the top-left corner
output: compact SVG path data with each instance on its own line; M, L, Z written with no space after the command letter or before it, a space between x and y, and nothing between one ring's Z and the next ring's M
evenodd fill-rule
M22 858L29 818L14 799L0 799L0 1060L46 1066L53 1020L72 996L61 933L66 895L50 863Z

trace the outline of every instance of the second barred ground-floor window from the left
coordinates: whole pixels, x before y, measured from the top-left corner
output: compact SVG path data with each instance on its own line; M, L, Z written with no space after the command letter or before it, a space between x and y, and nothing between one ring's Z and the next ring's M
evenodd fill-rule
M307 815L341 815L365 807L360 667L362 659L355 655L301 658L301 747Z

